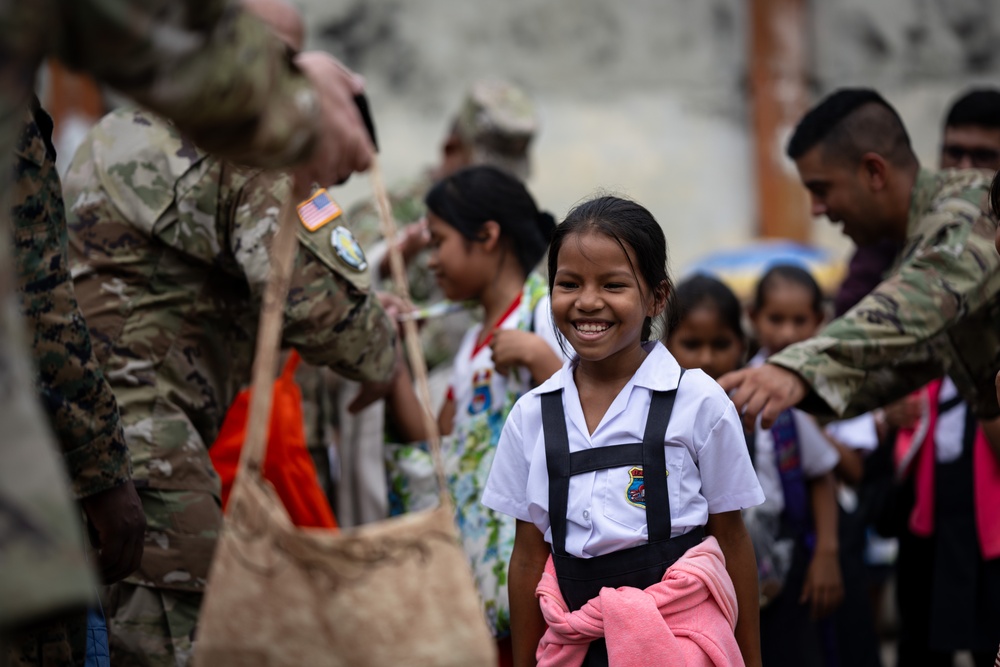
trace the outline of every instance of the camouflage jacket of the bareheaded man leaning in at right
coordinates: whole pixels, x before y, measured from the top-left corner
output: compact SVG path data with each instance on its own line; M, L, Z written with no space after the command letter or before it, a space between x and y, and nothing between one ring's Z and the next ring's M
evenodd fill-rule
M1000 256L991 174L922 170L907 239L885 281L815 337L768 359L812 393L799 407L851 416L948 374L980 418L1000 415Z

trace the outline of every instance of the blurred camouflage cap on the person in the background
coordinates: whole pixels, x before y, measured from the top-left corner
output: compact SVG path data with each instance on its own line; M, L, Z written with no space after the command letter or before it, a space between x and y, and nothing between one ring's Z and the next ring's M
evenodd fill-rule
M489 164L519 179L531 171L528 148L538 130L535 105L506 81L472 85L455 117L454 131L472 147L473 164Z

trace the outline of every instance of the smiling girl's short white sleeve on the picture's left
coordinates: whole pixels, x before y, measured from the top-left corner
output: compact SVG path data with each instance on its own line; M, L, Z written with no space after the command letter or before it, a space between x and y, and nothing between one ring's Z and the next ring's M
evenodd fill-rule
M514 404L497 443L490 475L486 479L482 503L492 510L521 521L531 521L528 514L528 458L521 437L521 405Z

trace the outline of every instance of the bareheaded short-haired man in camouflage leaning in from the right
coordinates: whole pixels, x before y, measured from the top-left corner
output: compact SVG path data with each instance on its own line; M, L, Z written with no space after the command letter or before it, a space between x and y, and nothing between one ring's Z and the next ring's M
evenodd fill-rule
M815 215L842 222L858 245L890 238L903 250L878 287L815 337L720 379L737 389L744 419L762 414L767 426L796 404L852 416L943 375L977 417L1000 415L992 174L921 169L902 121L870 90L838 91L810 111L788 153Z

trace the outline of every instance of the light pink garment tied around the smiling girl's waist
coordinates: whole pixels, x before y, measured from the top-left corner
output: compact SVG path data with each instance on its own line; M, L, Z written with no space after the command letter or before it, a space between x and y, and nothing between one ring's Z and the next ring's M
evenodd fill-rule
M736 589L714 537L688 549L663 579L644 591L602 588L570 612L552 557L535 592L548 623L535 657L539 667L579 667L587 646L604 637L615 667L743 665L736 643Z

